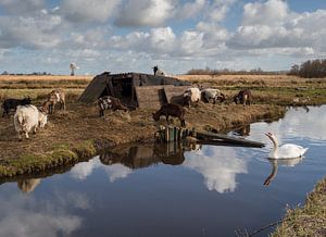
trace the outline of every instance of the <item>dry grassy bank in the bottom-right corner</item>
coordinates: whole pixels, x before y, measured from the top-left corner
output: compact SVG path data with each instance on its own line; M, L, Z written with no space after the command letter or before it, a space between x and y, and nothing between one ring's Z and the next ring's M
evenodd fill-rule
M308 195L302 208L287 210L272 236L326 236L326 177Z

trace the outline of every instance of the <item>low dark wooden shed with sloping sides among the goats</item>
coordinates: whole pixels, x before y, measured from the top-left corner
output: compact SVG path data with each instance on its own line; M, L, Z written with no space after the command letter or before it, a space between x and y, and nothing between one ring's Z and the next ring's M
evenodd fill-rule
M129 108L158 108L160 104L171 102L166 95L168 88L180 95L190 83L174 77L154 76L142 73L110 74L108 72L97 75L79 97L80 102L91 103L103 96L118 98ZM175 89L177 88L177 89Z

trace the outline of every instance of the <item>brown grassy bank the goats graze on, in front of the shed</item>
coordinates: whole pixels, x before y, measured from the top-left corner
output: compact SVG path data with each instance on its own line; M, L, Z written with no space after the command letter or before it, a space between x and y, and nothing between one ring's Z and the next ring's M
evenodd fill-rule
M284 116L284 107L268 104L206 104L187 109L186 125L198 130L235 129L260 120ZM135 141L151 141L159 124L154 110L138 109L129 113L105 111L100 118L95 105L67 104L66 111L50 115L49 123L29 140L18 141L13 117L0 118L0 177L41 172L89 159L104 147ZM171 121L179 125L178 120Z

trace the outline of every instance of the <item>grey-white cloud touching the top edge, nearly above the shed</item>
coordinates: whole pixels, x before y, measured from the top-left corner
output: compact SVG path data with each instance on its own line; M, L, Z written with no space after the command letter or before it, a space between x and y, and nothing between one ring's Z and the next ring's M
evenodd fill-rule
M115 24L118 26L160 26L174 15L173 0L129 0Z

